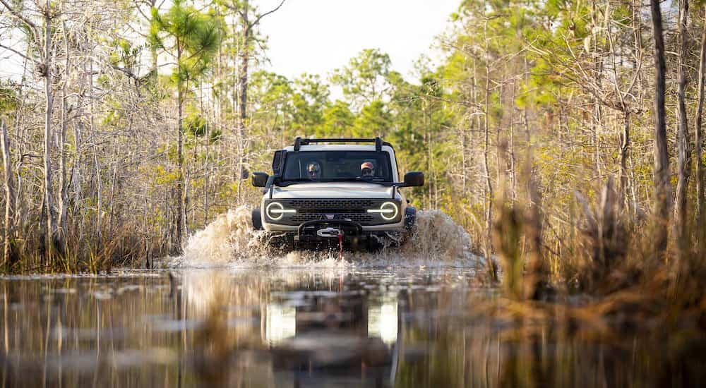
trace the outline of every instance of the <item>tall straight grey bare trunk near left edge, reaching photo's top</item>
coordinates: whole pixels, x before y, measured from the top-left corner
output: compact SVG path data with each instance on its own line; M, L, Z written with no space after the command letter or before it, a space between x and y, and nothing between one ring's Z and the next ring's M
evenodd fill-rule
M52 18L49 0L44 9L44 207L47 211L47 230L44 240L47 248L47 261L50 265L54 260L54 209L52 200Z

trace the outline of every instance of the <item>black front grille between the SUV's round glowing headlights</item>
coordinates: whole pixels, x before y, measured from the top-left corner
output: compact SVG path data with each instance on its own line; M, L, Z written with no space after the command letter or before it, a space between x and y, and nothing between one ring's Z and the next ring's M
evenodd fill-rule
M292 214L277 222L277 224L299 225L304 222L349 219L362 226L379 224L389 224L390 222L381 219L377 214L368 213L369 209L380 207L387 200L352 200L352 199L301 199L301 200L277 200L287 209L297 210ZM327 217L328 216L328 217Z

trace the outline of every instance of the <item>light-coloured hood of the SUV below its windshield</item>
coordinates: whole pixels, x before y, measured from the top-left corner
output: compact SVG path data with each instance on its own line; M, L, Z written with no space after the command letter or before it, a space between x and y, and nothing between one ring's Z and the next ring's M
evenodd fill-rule
M297 183L286 187L275 187L272 198L289 200L300 198L392 198L393 188L375 183Z

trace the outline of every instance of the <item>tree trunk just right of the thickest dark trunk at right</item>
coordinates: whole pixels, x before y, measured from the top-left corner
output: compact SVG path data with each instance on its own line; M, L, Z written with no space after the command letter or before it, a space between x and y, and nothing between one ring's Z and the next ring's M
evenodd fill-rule
M676 203L674 204L674 227L678 245L686 231L686 192L689 186L690 152L688 138L688 123L686 119L686 56L688 54L686 22L689 13L688 0L679 0L678 30L681 41L678 63L678 131L677 131L677 177ZM683 246L682 246L683 248Z

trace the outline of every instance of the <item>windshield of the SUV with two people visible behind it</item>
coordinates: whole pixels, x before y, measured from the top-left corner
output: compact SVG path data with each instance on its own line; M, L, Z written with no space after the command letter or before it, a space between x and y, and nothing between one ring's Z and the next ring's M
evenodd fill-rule
M392 182L390 157L383 151L287 152L282 181Z

